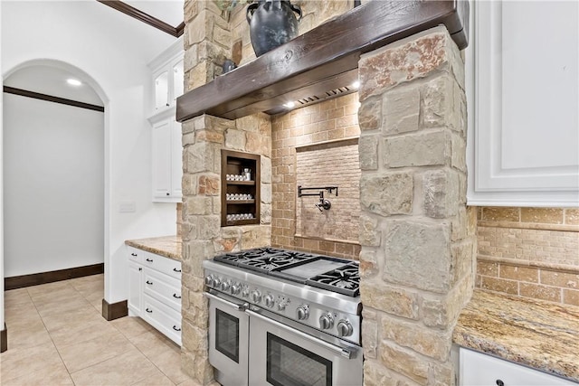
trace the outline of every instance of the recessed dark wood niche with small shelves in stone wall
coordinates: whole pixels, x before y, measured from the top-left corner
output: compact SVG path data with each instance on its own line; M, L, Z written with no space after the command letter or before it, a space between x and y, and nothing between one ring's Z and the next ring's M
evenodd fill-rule
M222 150L221 225L260 223L261 155Z

